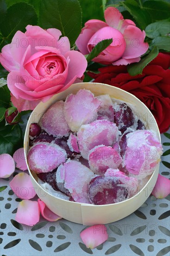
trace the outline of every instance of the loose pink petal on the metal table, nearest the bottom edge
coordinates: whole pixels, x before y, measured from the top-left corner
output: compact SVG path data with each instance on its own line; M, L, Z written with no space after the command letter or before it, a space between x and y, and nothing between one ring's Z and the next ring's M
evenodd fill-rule
M84 229L80 233L80 236L82 238L82 242L90 249L94 249L108 239L107 228L105 225L101 224Z

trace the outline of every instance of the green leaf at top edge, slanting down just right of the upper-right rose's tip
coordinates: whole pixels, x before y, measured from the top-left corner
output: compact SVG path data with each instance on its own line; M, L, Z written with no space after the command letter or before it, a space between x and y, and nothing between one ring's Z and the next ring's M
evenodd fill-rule
M131 13L132 17L138 22L141 29L145 29L151 23L151 16L147 10L139 7L139 3L135 0L126 0L122 2L125 9Z

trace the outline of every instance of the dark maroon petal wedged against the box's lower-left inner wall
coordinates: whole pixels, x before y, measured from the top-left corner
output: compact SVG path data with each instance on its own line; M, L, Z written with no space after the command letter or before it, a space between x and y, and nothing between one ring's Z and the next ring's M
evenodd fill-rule
M56 172L57 172L57 168L51 172L39 173L39 174L37 174L37 176L43 182L48 183L54 190L59 190L57 188Z

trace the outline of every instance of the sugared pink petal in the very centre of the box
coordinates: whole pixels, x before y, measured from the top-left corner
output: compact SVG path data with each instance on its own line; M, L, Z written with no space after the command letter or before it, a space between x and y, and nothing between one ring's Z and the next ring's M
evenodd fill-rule
M112 146L118 141L117 126L107 120L96 120L82 125L77 132L78 146L82 157L88 159L89 150L98 145Z

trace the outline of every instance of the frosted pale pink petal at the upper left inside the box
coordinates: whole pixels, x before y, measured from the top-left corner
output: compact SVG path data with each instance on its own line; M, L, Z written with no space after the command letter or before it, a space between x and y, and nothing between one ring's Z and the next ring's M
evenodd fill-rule
M43 115L40 120L41 127L49 134L57 138L69 135L69 127L63 114L63 101L57 101Z

